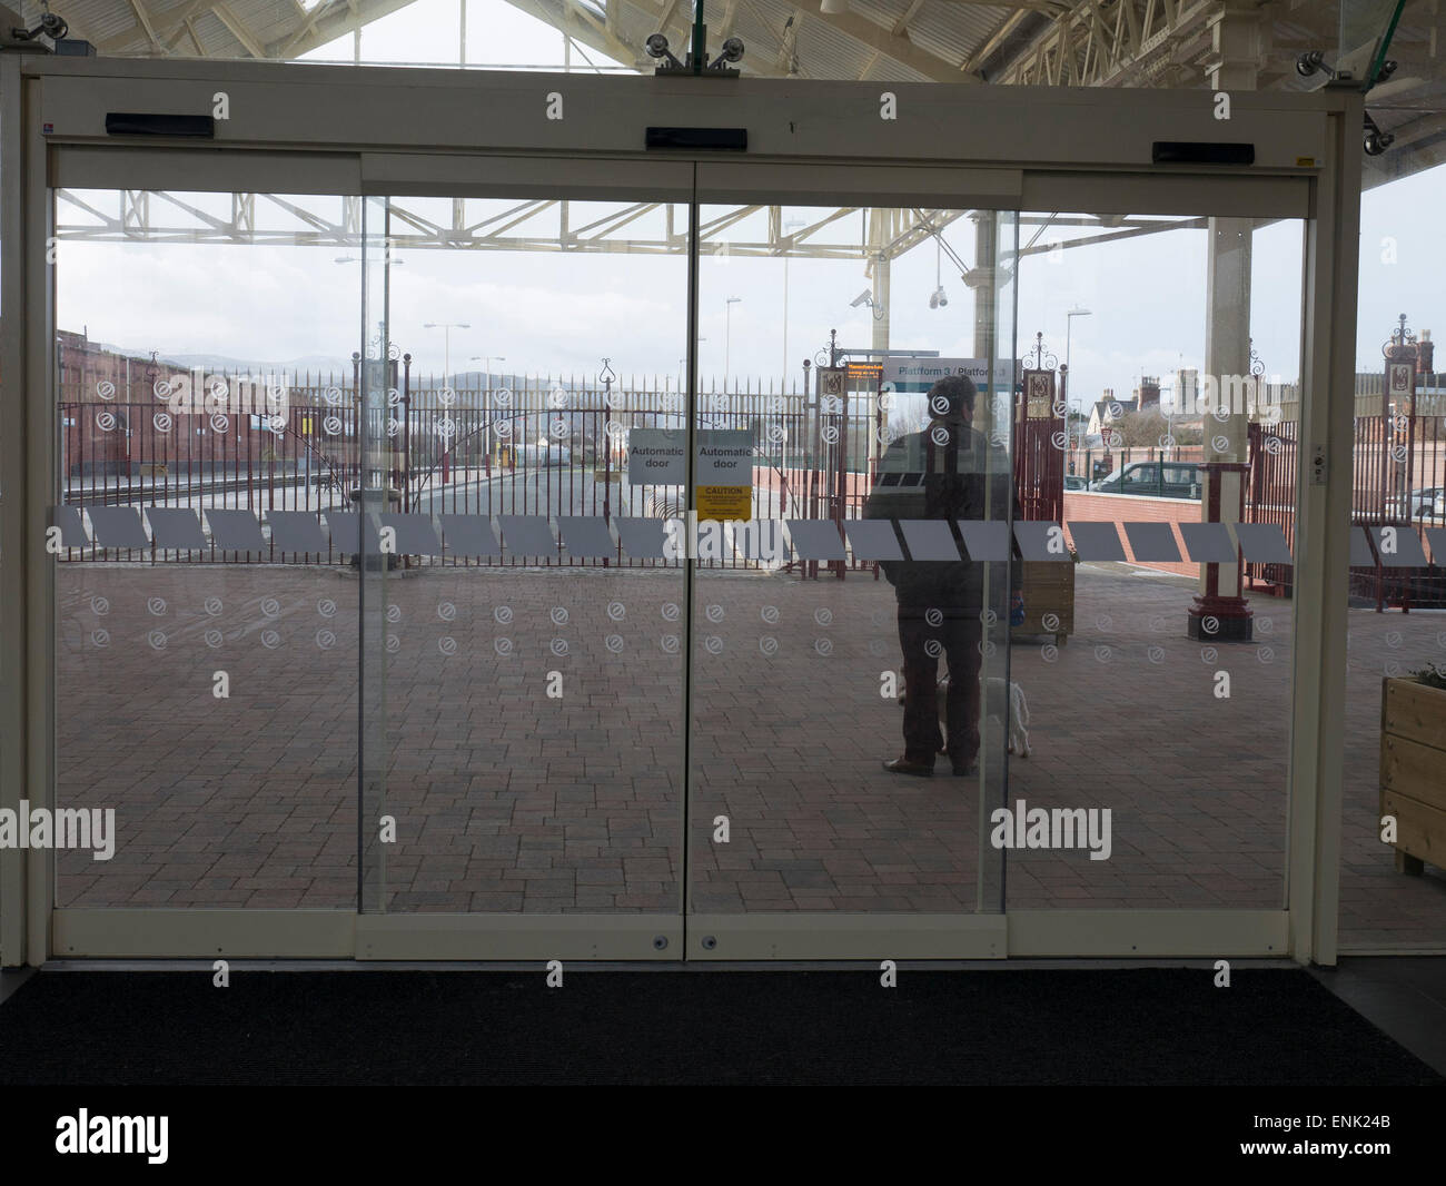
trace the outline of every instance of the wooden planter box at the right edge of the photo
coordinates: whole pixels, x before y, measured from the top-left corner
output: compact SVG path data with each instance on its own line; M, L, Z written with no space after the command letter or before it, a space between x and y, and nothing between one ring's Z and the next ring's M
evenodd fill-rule
M1381 681L1381 814L1395 816L1395 868L1446 866L1446 691Z

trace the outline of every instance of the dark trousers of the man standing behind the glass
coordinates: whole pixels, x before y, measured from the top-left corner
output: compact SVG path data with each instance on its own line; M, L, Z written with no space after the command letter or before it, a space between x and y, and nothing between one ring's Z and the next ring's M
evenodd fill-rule
M938 618L931 623L930 618ZM934 765L943 748L938 728L938 657L949 658L949 758L966 767L979 754L979 644L983 625L977 612L899 606L899 649L904 652L904 756Z

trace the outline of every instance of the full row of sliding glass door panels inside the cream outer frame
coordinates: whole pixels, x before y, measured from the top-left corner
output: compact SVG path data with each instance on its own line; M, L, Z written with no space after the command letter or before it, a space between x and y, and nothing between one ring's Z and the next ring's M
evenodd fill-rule
M65 953L1280 949L1301 223L487 168L62 169Z

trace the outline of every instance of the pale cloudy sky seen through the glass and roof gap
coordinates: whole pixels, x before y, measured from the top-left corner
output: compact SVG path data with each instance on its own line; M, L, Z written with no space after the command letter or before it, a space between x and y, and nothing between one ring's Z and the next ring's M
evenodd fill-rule
M363 62L455 62L458 0L418 3L362 32ZM353 38L307 55L308 61L351 61ZM574 67L584 51L573 49ZM606 65L594 51L593 62ZM562 35L503 0L467 6L467 61L496 68L560 68L568 51ZM116 194L90 201L116 208ZM1446 200L1446 168L1368 192L1362 200L1358 367L1381 366L1381 343L1406 312L1411 328L1439 328L1446 318L1440 276L1446 237L1429 210ZM224 213L230 200L194 195L197 207ZM330 217L340 200L302 198ZM414 211L450 218L450 200L403 200ZM467 217L509 207L467 202ZM600 217L612 204L573 202L574 226ZM278 230L299 224L279 207L257 200L259 218ZM821 211L785 210L790 218ZM704 210L704 218L709 211ZM516 233L548 234L555 211ZM683 218L683 208L675 210ZM1008 217L1008 216L1006 216ZM735 242L761 239L761 218L745 221ZM552 220L552 221L549 221ZM61 221L85 221L62 208ZM633 224L645 236L662 229L662 214ZM1025 224L1021 242L1038 230ZM1099 229L1050 227L1050 243ZM1012 229L1005 227L1008 239ZM1267 377L1294 380L1300 369L1300 289L1303 224L1283 221L1254 237L1251 334ZM862 216L834 224L824 242L862 242ZM972 266L975 231L960 218L944 231L947 244ZM1387 240L1394 240L1394 246ZM1128 396L1141 375L1170 386L1178 366L1202 367L1205 349L1206 233L1174 230L1025 260L1015 310L1005 307L1001 331L1015 333L1018 349L1045 347L1066 359L1070 318L1071 396L1098 398L1111 388ZM335 359L357 349L360 266L341 262L344 247L87 244L64 242L58 257L59 325L85 328L94 340L127 351L162 356L207 354L282 363ZM508 375L596 375L603 359L623 376L651 376L677 386L685 356L685 260L681 255L577 255L544 252L460 252L398 249L392 269L390 336L419 372L463 370ZM936 279L937 275L937 279ZM947 305L930 308L936 283ZM700 372L703 388L723 382L779 385L801 382L801 360L813 357L837 330L844 346L868 346L873 310L850 301L869 286L862 260L720 256L706 259L700 283ZM729 298L737 298L729 301ZM888 308L889 344L972 357L973 295L959 269L933 242L897 259ZM457 328L427 328L453 323ZM1012 323L1012 324L1011 324ZM1168 401L1168 395L1167 395Z

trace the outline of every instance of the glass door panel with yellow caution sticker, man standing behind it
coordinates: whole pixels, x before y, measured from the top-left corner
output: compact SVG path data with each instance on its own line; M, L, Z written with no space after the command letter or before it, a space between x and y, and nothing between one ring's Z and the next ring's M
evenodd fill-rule
M1012 217L701 226L691 908L998 911Z

